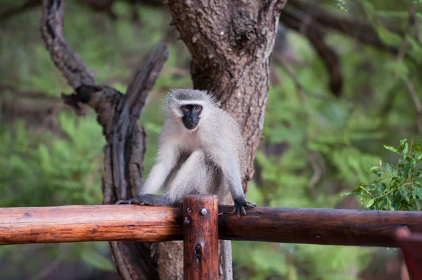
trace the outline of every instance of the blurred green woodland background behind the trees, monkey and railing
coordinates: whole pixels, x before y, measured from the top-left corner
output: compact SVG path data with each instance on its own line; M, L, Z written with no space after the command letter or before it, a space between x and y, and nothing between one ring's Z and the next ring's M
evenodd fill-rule
M347 12L336 5L344 2ZM379 159L397 160L383 144L421 141L422 112L416 110L422 92L421 19L409 8L421 9L414 1L313 3L336 17L368 22L384 44L399 51L325 29L321 40L337 54L343 75L336 97L314 46L281 26L248 200L273 207L361 209L357 198L339 195L371 182L375 176L367 171ZM39 1L0 0L0 207L101 204L101 127L92 111L77 117L60 101L60 93L72 89L44 48L40 16ZM170 44L170 58L140 120L147 134L146 174L163 122L160 98L170 87L192 87L190 55L170 20L161 1L66 3L65 38L96 70L98 84L124 92L146 53L158 42ZM234 242L237 279L407 279L402 269L399 254L385 248ZM118 276L108 243L63 243L1 246L0 279Z

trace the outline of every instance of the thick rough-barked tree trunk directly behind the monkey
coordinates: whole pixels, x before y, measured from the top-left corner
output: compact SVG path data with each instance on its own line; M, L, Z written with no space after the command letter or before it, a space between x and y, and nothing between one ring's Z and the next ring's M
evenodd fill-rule
M192 56L193 87L215 94L241 125L247 156L245 192L262 136L269 62L285 4L286 0L167 1L172 23ZM158 272L162 279L182 279L183 244L169 243L172 252L168 243L158 243L158 251L166 252L158 256Z

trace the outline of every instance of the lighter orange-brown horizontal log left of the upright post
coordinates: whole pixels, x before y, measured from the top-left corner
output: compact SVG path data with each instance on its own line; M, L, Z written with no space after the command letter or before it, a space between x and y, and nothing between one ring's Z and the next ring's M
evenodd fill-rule
M137 205L0 208L0 245L182 240L181 209Z

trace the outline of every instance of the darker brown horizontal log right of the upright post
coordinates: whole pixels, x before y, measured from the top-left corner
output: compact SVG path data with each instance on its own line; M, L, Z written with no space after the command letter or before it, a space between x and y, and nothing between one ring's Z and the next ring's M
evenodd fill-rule
M238 219L220 206L219 238L243 241L395 247L395 230L422 233L422 211L371 211L315 208L247 210Z

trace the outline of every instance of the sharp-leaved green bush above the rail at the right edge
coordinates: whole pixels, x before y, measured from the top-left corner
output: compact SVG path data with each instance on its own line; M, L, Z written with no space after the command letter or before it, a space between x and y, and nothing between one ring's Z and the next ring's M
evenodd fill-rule
M350 193L360 197L364 207L371 210L421 210L422 206L422 142L409 144L400 141L397 148L384 147L399 155L398 163L371 165L369 174L378 179L369 184L359 184Z

